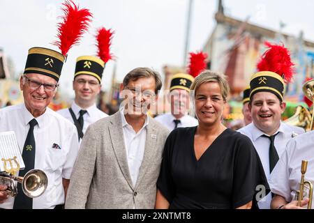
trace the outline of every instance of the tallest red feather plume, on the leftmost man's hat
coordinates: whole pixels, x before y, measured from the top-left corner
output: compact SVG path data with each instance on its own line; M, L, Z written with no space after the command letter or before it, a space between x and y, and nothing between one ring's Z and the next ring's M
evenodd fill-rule
M57 38L53 45L57 45L61 50L61 54L66 56L68 50L79 43L80 38L87 29L93 15L87 8L79 9L72 0L66 1L63 5L64 15L61 17L63 22L58 24Z

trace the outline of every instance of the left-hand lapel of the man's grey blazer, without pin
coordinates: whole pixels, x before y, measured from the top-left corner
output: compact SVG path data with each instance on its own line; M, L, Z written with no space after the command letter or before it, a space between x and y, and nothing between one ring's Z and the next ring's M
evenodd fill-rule
M132 178L130 178L130 171L128 169L128 160L126 158L126 146L124 145L124 132L122 130L121 114L117 112L112 115L111 125L109 126L110 138L112 147L117 157L119 167L124 174L124 178L128 185L133 189Z

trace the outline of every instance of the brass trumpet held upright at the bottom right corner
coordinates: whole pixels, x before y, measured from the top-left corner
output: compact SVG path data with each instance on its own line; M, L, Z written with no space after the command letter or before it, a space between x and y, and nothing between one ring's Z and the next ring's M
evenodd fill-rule
M301 182L299 190L297 190L297 206L301 206L301 201L304 199L304 188L308 188L308 209L312 208L312 199L313 199L313 184L308 181L304 180L304 175L306 174L306 169L308 167L308 161L302 160L301 164Z

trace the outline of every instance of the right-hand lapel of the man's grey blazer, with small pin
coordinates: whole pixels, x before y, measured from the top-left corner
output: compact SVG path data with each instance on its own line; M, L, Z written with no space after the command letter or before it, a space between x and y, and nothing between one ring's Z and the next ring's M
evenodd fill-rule
M150 117L149 117L150 118ZM152 119L152 118L150 118ZM140 167L140 173L138 175L135 188L137 185L140 184L140 181L147 173L147 168L151 165L151 159L154 157L156 152L156 141L157 141L157 130L154 128L155 125L152 120L149 120L149 124L147 125L147 136L146 136L146 143L145 143L145 150L144 150L144 157Z

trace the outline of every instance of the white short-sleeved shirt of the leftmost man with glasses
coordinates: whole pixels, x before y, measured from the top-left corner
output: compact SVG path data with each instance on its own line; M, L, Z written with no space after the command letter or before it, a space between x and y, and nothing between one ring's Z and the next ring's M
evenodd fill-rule
M14 131L21 153L32 119L24 104L0 109L0 132ZM40 197L33 198L33 209L54 208L64 203L62 178L70 179L72 173L79 150L77 130L75 125L48 107L36 121L38 125L33 130L36 141L34 168L45 172L48 186ZM52 148L54 144L59 148ZM14 198L9 197L0 208L10 209L13 204Z

